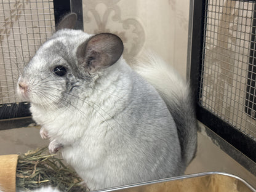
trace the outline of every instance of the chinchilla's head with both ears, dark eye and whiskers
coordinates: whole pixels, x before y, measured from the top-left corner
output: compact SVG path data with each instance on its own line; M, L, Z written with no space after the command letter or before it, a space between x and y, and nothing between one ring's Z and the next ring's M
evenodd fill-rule
M63 18L58 31L25 66L17 87L21 97L35 105L69 105L74 95L88 92L98 76L119 60L123 44L118 36L72 30L75 20L74 14Z

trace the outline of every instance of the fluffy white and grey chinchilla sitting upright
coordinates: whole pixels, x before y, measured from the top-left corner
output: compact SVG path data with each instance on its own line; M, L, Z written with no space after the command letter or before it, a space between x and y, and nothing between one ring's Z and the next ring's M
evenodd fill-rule
M34 121L90 190L182 175L196 151L189 86L161 59L131 68L121 39L69 14L18 80Z

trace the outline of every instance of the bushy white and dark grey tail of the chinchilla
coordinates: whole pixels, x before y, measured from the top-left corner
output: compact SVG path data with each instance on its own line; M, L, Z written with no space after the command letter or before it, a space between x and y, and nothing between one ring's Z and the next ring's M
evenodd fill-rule
M196 153L198 127L190 86L155 54L148 52L145 58L131 66L158 90L166 102L178 129L182 158L187 166Z

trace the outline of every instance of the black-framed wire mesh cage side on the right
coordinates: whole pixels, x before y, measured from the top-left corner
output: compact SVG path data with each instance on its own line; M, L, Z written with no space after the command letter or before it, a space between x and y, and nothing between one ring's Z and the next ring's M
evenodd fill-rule
M244 154L225 150L255 175L255 2L193 7L189 62L198 119Z

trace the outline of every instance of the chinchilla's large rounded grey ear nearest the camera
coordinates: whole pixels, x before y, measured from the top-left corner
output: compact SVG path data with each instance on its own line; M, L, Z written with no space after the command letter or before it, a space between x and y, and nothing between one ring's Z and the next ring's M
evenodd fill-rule
M83 42L76 51L79 65L89 73L108 68L118 61L124 50L122 40L111 33L100 33Z

